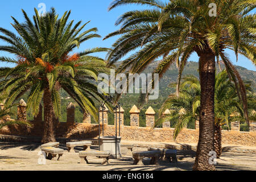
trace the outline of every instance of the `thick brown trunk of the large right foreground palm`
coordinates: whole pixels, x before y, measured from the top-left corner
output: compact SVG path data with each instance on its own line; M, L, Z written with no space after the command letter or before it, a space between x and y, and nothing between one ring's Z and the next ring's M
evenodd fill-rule
M199 142L193 170L215 170L209 163L209 152L214 151L214 84L215 56L210 51L200 54L199 73L201 85L201 103L199 120Z

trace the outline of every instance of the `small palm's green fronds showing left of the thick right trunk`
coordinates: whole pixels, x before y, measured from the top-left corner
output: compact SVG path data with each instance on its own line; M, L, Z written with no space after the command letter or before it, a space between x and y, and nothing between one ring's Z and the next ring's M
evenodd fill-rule
M187 85L188 82L189 86ZM198 82L199 80L195 76L184 77L183 82L181 82L183 86L181 86L179 97L170 94L159 110L159 119L156 125L163 122L175 124L174 140L185 126L199 121L200 85ZM170 114L163 114L166 109L170 109Z

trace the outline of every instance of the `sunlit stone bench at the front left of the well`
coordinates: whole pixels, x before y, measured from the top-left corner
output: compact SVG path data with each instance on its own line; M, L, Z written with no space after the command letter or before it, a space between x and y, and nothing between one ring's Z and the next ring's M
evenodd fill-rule
M97 156L102 158L101 164L109 164L109 156L110 151L81 151L79 152L79 157L81 158L81 164L88 164L88 160L86 159L88 156Z

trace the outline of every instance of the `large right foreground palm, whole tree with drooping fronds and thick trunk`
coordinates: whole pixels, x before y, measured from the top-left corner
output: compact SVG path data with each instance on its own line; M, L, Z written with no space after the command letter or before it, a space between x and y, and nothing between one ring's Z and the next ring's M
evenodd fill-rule
M209 4L217 6L216 16L209 16ZM209 164L214 137L214 76L215 62L222 59L229 77L235 82L238 96L249 125L245 86L234 68L226 49L255 59L255 14L249 14L255 4L248 0L115 0L109 10L120 5L147 5L150 9L129 11L118 18L121 28L106 36L121 35L108 53L113 64L131 51L119 72L141 73L148 64L162 56L154 73L163 76L172 63L179 69L177 94L181 74L193 52L199 56L201 85L200 133L193 169L214 170ZM137 48L140 48L139 50Z

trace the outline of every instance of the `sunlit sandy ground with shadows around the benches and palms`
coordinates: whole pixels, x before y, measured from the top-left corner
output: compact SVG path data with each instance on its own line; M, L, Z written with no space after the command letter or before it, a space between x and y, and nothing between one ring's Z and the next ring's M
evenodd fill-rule
M191 155L177 155L178 163L172 164L160 161L159 166L149 165L149 159L144 160L144 166L133 165L131 156L123 156L122 159L110 159L108 166L96 164L100 159L89 158L94 164L80 164L78 152L82 148L75 148L76 153L68 153L63 148L62 161L46 160L45 165L38 164L38 143L0 143L0 170L1 171L133 171L133 170L160 170L160 171L183 171L192 170L195 160L195 152ZM97 149L96 146L92 148ZM179 154L179 151L178 151ZM254 170L256 171L256 154L243 154L239 152L223 152L221 159L217 159L217 170Z

